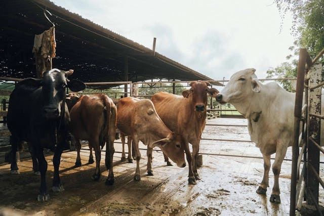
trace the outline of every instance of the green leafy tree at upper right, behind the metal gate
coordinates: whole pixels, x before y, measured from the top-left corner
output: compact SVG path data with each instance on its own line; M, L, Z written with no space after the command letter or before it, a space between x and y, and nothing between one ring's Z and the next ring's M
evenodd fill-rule
M292 55L287 59L298 56L299 48L306 48L310 57L314 59L324 48L324 0L274 0L282 20L290 12L293 15L292 34L297 38L294 46L290 47ZM324 65L324 58L319 59ZM296 77L297 60L267 71L268 77ZM287 74L286 74L287 73ZM322 71L324 77L324 70ZM287 83L280 81L285 89Z

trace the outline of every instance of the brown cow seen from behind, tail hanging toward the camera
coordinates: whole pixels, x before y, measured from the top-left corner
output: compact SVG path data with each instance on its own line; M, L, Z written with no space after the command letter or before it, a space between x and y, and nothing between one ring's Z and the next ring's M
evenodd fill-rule
M83 95L70 111L70 131L75 138L77 150L76 165L81 165L80 139L89 141L89 148L93 148L96 156L96 171L93 180L100 178L101 149L106 146L106 168L109 175L106 184L114 183L112 160L114 147L113 142L116 134L116 106L113 101L104 94Z

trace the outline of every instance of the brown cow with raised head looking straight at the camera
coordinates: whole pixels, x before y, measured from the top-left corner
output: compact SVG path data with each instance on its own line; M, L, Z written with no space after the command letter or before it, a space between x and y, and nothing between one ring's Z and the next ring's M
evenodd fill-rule
M160 92L153 95L153 102L157 114L163 122L185 139L185 152L189 165L189 184L196 184L200 180L197 173L196 159L199 152L201 134L206 125L207 94L216 97L218 91L208 88L208 81L193 81L191 89L182 92L182 96ZM192 156L189 145L192 145Z

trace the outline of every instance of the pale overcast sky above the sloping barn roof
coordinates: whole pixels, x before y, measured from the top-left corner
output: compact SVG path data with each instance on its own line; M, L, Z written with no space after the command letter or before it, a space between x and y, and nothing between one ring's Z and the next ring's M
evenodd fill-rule
M251 67L265 78L294 41L273 0L52 2L149 49L156 37L156 52L215 80Z

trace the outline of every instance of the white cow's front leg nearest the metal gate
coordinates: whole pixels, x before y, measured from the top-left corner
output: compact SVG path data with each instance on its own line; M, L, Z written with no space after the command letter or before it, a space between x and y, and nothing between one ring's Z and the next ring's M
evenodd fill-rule
M272 172L274 176L274 183L272 187L272 193L270 196L270 202L274 203L280 203L280 189L279 189L279 175L280 175L280 170L281 170L281 164L282 161L285 158L286 152L287 152L287 146L280 145L276 149L276 154L275 154L275 159L272 164Z

